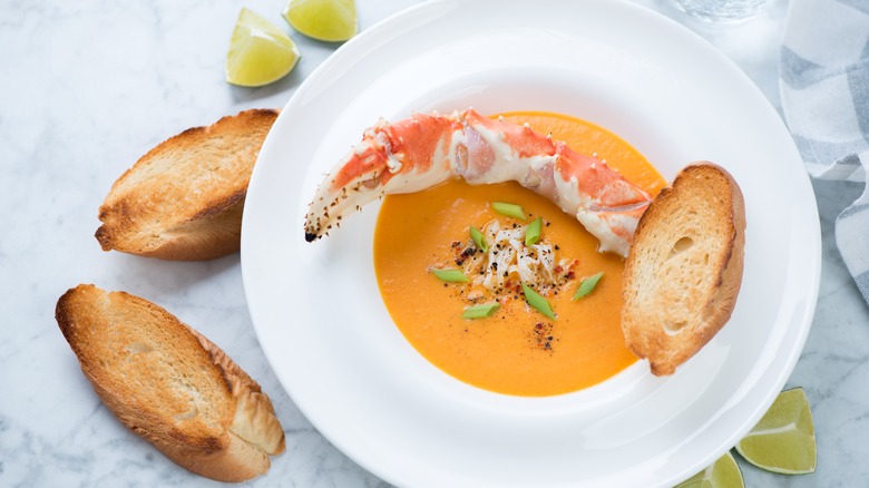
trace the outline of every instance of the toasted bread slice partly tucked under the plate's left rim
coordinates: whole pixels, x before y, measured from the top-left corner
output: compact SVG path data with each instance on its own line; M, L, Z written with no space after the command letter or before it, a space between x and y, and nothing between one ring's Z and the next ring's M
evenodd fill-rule
M111 186L99 207L102 251L176 261L238 251L242 208L277 110L245 110L160 143Z

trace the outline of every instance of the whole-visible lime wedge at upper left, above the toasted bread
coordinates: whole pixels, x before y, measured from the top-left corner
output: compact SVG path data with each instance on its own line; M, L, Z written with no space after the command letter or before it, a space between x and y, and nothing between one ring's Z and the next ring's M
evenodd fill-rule
M267 85L292 71L300 57L286 32L242 8L226 53L226 81L243 87Z

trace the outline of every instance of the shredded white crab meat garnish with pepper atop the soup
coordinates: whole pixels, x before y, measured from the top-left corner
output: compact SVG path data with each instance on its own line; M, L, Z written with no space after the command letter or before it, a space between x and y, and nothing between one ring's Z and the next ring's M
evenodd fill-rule
M471 285L499 295L511 293L525 283L541 295L548 295L569 280L575 261L565 258L556 263L554 246L546 240L525 245L526 227L502 227L497 219L482 227L489 251L482 253L470 242L456 260L465 274L471 277ZM476 294L469 295L469 299L473 296Z

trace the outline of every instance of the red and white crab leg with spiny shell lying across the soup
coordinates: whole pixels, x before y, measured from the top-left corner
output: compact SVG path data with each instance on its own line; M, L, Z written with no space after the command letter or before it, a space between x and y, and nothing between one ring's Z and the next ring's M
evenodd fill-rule
M305 216L305 240L322 237L345 215L383 195L413 193L461 177L468 184L515 180L574 215L601 241L599 251L626 255L648 194L595 157L528 126L472 109L380 120L320 185Z

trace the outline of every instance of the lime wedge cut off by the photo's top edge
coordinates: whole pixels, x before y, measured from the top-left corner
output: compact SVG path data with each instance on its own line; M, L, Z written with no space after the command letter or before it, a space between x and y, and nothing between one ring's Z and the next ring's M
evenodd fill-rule
M293 29L323 41L344 41L357 35L354 0L290 0L284 19Z

